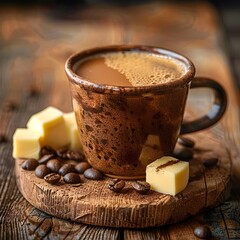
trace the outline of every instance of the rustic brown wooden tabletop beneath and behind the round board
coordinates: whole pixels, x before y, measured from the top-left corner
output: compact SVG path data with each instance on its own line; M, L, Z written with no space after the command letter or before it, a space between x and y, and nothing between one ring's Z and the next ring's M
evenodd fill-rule
M193 229L199 224L207 224L214 239L239 239L239 92L214 9L204 3L154 3L57 10L0 10L0 239L197 239ZM193 60L197 75L215 78L225 87L227 112L207 131L226 148L233 165L229 200L178 224L138 230L71 223L37 210L23 198L16 186L11 157L13 132L24 127L31 114L48 105L71 110L63 68L71 53L118 43L177 50ZM199 94L203 93L190 96L195 105L203 100ZM201 102L205 105L207 101ZM198 110L193 112L197 115Z

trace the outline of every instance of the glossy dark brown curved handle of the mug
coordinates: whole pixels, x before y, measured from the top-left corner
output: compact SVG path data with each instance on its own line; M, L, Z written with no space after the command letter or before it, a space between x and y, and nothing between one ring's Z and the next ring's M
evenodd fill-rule
M203 130L215 124L223 116L227 107L227 95L223 87L216 81L206 77L195 77L190 88L211 88L214 93L214 102L211 110L199 119L183 122L180 134Z

